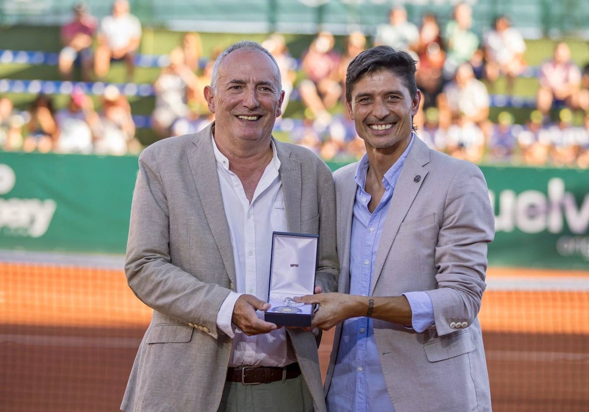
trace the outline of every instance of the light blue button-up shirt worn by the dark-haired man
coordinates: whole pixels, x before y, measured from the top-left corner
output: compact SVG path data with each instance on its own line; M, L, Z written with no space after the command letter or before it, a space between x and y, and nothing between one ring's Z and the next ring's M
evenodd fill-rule
M358 189L354 202L350 243L350 294L370 294L373 265L386 214L396 182L415 138L416 135L413 134L407 149L385 173L382 181L385 194L372 213L368 210L370 195L365 191L368 157L364 155L358 164L355 176ZM404 295L411 305L413 329L422 332L433 325L434 307L429 295L423 291ZM337 360L326 401L327 410L330 412L395 411L380 367L372 319L358 317L343 323Z

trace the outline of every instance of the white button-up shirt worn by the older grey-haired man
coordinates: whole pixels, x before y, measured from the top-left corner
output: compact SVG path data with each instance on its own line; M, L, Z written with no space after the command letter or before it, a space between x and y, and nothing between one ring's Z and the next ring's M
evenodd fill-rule
M213 148L237 281L237 293L229 293L217 314L217 327L233 338L229 366L286 366L295 362L296 357L287 344L284 328L247 336L231 324L233 308L241 294L254 295L264 302L268 300L272 232L287 230L276 147L272 142L272 161L257 184L251 204L239 177L229 170L229 160L219 151L214 138ZM258 316L263 318L264 314L258 311Z

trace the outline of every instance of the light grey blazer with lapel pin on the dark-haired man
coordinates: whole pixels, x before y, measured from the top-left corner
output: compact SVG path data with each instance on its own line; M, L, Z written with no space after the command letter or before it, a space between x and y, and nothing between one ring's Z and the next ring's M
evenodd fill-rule
M338 289L349 293L350 232L356 165L334 174ZM376 346L396 412L490 411L489 380L477 314L485 290L494 215L475 165L429 149L415 138L391 199L370 293L426 291L435 325L415 333L374 320ZM453 328L464 322L468 327ZM342 327L327 371L329 390Z

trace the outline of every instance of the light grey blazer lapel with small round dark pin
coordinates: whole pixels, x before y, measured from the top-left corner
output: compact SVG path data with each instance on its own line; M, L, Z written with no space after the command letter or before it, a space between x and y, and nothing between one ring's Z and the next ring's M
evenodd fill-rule
M386 214L385 226L383 227L382 237L380 238L378 252L376 252L372 283L370 284L371 295L374 293L376 282L385 265L385 260L389 254L389 250L391 250L393 241L395 241L399 226L401 226L401 222L405 219L405 215L409 211L413 200L415 200L415 196L419 188L421 188L425 176L428 174L428 170L423 166L429 162L429 148L417 135L414 134L414 136L413 146L405 160L401 175L399 175L399 180L391 198L391 205ZM421 178L416 182L414 179L417 175L421 176Z

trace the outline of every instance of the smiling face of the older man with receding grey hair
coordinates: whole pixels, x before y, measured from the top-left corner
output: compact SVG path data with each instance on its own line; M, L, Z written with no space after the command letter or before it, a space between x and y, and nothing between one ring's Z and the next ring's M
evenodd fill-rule
M239 49L224 57L214 88L204 90L215 115L215 137L232 144L269 141L282 114L278 68L262 51Z

